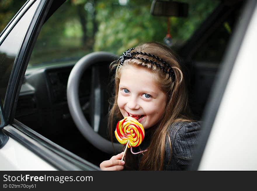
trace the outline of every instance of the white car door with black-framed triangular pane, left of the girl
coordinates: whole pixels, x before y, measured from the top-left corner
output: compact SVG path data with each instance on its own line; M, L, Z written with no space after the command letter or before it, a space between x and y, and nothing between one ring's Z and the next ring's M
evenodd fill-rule
M29 0L0 35L1 170L99 170L14 119L28 60L52 0Z

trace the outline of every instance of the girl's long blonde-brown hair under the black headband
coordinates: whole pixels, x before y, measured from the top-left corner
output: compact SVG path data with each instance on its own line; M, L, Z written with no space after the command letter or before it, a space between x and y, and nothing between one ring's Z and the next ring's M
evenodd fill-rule
M185 85L185 80L183 78L183 73L181 71L180 64L173 51L160 43L157 42L147 42L137 46L133 51L146 52L162 58L167 64L172 67L175 73L175 79L172 80L168 74L163 72L162 69L154 64L147 63L139 59L127 59L124 61L121 67L118 61L114 61L111 65L111 69L116 69L114 75L114 97L112 99L112 104L110 105L109 115L108 115L108 128L111 140L113 141L113 126L118 120L123 119L121 112L117 104L120 74L122 68L133 65L136 67L147 68L150 72L155 74L157 77L157 83L163 92L167 95L166 107L162 115L162 119L159 120L158 124L154 127L153 136L151 138L148 150L143 154L140 161L140 170L163 170L164 168L164 158L165 158L165 140L168 138L169 145L171 149L171 139L169 137L169 128L172 124L179 121L192 121L189 117L189 107L188 107L188 97L187 88ZM131 51L131 52L133 52ZM138 55L139 58L144 58L148 60L155 61L156 63L163 65L159 60L146 56ZM170 158L171 160L171 158Z

